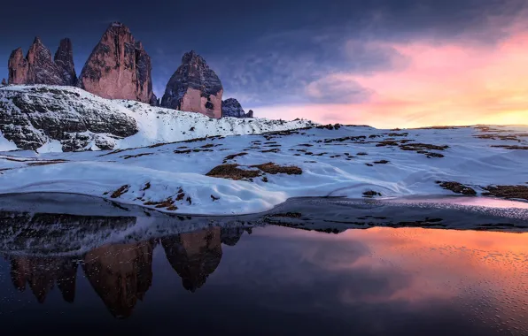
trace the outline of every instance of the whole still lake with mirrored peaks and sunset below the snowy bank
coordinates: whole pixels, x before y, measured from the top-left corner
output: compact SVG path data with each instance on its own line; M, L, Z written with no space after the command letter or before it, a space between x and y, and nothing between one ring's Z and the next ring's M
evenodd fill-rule
M0 203L3 335L528 334L522 209L300 199L200 218L68 195Z

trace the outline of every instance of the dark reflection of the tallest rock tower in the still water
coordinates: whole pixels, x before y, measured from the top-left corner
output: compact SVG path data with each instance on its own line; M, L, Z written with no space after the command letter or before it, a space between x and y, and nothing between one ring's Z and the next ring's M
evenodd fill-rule
M113 244L84 256L86 278L113 317L129 317L137 300L144 299L152 285L154 247L154 241Z

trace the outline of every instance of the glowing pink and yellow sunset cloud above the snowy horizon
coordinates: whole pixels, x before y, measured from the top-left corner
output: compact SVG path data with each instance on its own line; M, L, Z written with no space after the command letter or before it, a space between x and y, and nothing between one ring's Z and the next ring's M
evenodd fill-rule
M373 92L368 101L255 110L268 118L377 127L528 124L527 32L512 34L494 46L461 40L381 47L396 50L408 62L365 75L331 73L307 86L308 93L319 94L324 89L321 83L337 80L333 87L343 88L348 82L351 88L360 86Z

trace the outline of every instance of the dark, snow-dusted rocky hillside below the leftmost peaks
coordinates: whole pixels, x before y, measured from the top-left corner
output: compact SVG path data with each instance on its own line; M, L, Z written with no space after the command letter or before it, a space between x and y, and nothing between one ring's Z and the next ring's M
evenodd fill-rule
M138 132L134 118L86 95L79 88L1 88L0 132L19 149L58 140L63 151L113 149L115 139Z

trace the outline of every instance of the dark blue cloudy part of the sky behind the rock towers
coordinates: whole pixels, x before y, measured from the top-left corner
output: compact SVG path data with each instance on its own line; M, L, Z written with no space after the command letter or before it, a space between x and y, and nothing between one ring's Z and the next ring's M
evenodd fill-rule
M330 73L369 74L405 67L389 44L464 40L489 45L508 37L512 20L528 24L528 0L93 0L10 1L2 5L0 73L12 50L35 35L54 53L70 37L81 71L107 25L120 21L151 55L154 91L162 95L183 52L197 50L220 76L225 95L245 108L276 104L358 103L368 88L307 86ZM376 43L373 43L376 42Z

